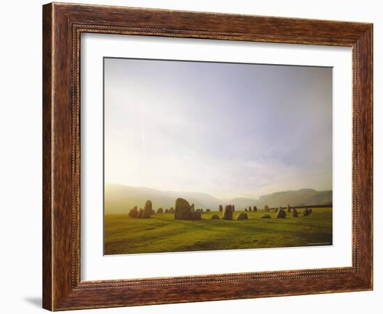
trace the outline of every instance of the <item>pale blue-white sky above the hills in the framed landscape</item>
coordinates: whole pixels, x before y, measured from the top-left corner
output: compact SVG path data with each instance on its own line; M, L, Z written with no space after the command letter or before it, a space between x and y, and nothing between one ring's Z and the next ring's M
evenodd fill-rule
M332 189L331 86L331 68L105 58L105 182L217 198Z

